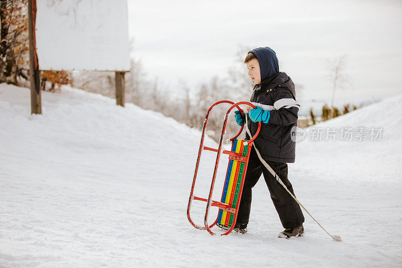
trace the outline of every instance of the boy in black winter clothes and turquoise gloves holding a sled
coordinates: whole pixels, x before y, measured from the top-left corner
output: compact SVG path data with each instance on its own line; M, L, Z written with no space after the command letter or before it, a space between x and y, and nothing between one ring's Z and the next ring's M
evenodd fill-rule
M276 53L269 47L259 47L249 51L244 63L247 65L248 75L255 84L250 102L257 109L251 109L248 113L250 118L248 128L251 135L256 133L258 122L262 122L261 131L254 140L254 144L262 158L294 195L292 185L287 180L287 163L293 163L295 157L295 142L290 138L291 129L297 124L297 112L300 107L295 100L294 83L286 73L279 72ZM244 114L236 112L236 122L242 125L245 119ZM261 173L264 175L271 199L285 228L278 237L288 239L291 236L302 235L305 218L300 206L261 163L254 146L250 153L234 230L240 233L247 232L251 189L257 183Z

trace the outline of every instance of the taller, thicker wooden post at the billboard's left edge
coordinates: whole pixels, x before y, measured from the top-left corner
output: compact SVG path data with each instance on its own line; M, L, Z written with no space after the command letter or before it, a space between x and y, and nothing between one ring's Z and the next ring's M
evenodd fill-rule
M31 114L42 114L39 63L35 40L36 0L28 0L29 80L31 84Z

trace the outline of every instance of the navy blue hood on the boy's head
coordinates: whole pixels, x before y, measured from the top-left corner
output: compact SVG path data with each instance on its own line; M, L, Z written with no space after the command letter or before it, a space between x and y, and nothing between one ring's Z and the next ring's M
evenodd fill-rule
M275 51L269 47L258 47L248 53L253 53L260 64L261 82L279 72L278 58Z

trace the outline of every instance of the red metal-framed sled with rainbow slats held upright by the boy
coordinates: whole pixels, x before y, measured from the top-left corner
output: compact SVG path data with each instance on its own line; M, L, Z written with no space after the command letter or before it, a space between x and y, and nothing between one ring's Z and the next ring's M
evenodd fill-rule
M209 148L209 147L204 146L204 134L205 134L205 130L207 128L208 116L209 116L212 108L221 103L228 103L228 104L231 104L232 106L226 112L225 120L224 120L223 127L222 127L221 138L219 140L218 149ZM248 103L248 102L233 103L230 101L219 101L219 102L214 103L207 112L207 116L204 121L201 142L199 144L198 157L197 157L197 162L195 164L194 178L192 180L190 198L188 200L188 205L187 205L187 218L192 226L194 226L197 229L208 230L208 232L212 235L215 233L213 231L211 231L211 228L215 224L217 224L218 219L220 219L220 221L221 221L220 223L222 225L227 226L229 228L229 230L222 235L229 234L235 226L236 219L237 219L237 213L238 213L238 207L240 204L240 199L241 199L241 195L242 195L242 191L243 191L244 178L246 176L248 159L250 157L252 142L257 137L258 133L260 132L260 128L261 128L261 122L259 122L257 132L250 140L248 140L248 141L236 140L236 138L243 131L243 127L244 127L244 124L243 124L240 128L240 131L233 138L230 139L230 141L232 141L232 151L224 150L222 152L224 154L228 154L230 160L229 160L227 177L226 177L224 189L222 190L221 202L212 200L212 194L213 194L214 185L215 185L215 178L216 178L217 171L218 171L219 158L221 156L222 143L223 143L223 138L224 138L224 134L225 134L225 130L226 130L228 116L229 116L229 113L232 111L232 109L235 107L239 111L242 111L242 109L240 109L239 105L249 105L252 108L255 108L255 106L253 104ZM217 159L215 162L214 175L212 177L211 189L210 189L210 194L208 196L208 199L199 198L199 197L196 197L193 195L195 179L197 177L197 172L198 172L199 159L201 156L201 152L203 150L210 150L210 151L217 152ZM232 165L231 165L231 161L232 161ZM235 163L235 164L233 164L233 163ZM232 180L230 180L231 179L230 174L233 172L234 172L234 174L236 174L236 177L233 177ZM231 184L229 184L229 182L231 182ZM226 196L227 196L227 198L225 198ZM206 208L205 218L204 218L205 226L198 226L191 220L190 209L191 209L191 203L193 200L207 202L207 208ZM218 207L219 212L218 212L218 216L217 216L217 219L215 220L215 222L213 224L209 225L208 224L208 213L209 213L209 209L211 206Z

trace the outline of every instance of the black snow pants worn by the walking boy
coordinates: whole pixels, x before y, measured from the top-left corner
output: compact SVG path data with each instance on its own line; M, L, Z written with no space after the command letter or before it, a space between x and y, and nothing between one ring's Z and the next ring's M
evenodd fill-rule
M294 195L292 185L287 180L287 164L272 161L266 162L279 175L283 184ZM246 224L247 226L248 224L251 208L251 188L258 182L261 173L264 175L265 183L268 186L272 202L278 212L282 226L286 229L301 225L305 221L305 218L300 206L279 182L275 182L274 176L261 163L254 147L250 152L236 225Z

